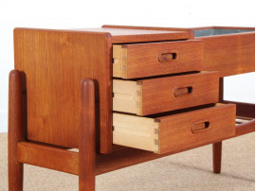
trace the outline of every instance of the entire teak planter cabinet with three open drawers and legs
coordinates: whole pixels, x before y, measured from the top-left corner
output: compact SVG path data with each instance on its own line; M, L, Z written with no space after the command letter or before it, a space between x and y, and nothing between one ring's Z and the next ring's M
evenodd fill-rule
M223 78L255 71L248 27L14 29L9 190L23 164L95 175L255 130L254 104L223 100ZM79 148L79 152L69 148Z

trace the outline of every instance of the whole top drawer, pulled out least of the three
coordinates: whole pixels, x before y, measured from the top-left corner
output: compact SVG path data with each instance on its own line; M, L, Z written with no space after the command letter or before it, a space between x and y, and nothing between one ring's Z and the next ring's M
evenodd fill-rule
M143 78L200 71L202 41L113 45L113 77Z

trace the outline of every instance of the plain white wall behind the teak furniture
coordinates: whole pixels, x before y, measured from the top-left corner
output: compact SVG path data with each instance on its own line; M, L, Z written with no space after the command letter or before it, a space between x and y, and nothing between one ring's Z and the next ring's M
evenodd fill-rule
M255 0L0 1L0 132L8 130L8 76L14 27L255 26ZM254 74L225 79L225 98L254 102ZM236 89L236 90L235 90Z

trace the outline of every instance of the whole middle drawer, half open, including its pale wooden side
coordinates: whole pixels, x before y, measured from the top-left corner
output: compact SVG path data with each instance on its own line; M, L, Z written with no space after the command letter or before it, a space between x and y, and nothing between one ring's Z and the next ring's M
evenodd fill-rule
M113 81L113 110L147 115L218 102L218 72Z

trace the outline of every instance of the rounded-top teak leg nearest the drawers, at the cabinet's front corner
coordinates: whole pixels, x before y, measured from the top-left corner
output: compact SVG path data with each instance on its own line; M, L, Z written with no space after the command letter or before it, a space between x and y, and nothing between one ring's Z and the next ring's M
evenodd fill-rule
M82 127L79 144L79 190L95 190L95 86L82 80Z

